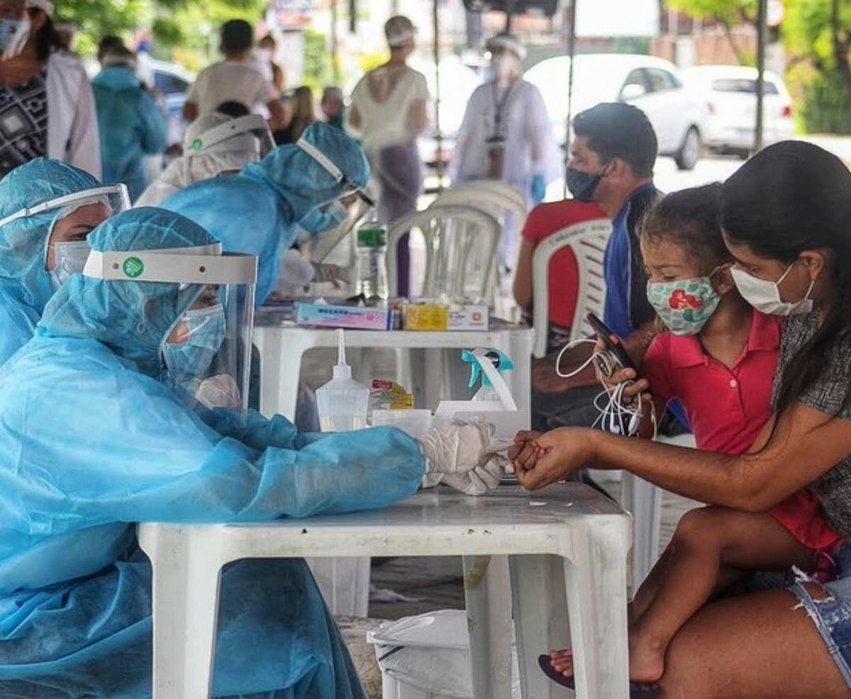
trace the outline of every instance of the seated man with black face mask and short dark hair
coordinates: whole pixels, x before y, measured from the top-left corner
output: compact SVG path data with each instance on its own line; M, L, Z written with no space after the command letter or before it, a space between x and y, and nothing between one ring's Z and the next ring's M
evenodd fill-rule
M659 196L653 185L658 144L643 111L623 103L604 103L578 114L568 163L567 185L574 199L597 202L612 219L604 258L606 303L603 320L624 340L639 363L653 338L654 310L638 247L638 226ZM580 290L580 293L582 291ZM591 345L566 353L562 371L579 367ZM600 386L592 367L574 378L558 378L554 357L536 362L533 376L533 427L539 430L590 426L599 412Z

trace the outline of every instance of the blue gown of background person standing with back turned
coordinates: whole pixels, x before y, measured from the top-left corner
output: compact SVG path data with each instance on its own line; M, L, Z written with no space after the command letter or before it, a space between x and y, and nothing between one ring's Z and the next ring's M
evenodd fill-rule
M100 71L92 80L92 92L104 182L123 182L134 202L148 185L145 156L162 153L167 145L165 117L134 71L124 66Z

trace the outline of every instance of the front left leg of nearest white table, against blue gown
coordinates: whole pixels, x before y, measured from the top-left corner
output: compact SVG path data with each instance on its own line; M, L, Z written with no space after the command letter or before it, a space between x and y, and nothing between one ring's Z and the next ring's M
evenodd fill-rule
M220 566L180 526L160 526L140 546L152 568L153 699L208 699Z

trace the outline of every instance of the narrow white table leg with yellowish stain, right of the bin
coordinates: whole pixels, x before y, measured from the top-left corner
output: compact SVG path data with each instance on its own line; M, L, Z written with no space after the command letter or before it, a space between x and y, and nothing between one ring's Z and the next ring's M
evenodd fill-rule
M464 556L473 696L511 697L511 604L506 556Z

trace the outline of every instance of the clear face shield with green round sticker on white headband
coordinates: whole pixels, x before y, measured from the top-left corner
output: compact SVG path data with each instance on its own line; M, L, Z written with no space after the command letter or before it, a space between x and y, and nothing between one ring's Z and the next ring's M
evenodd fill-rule
M89 255L84 274L109 281L180 284L190 305L163 339L166 381L203 414L248 412L257 258L221 253L220 244Z

